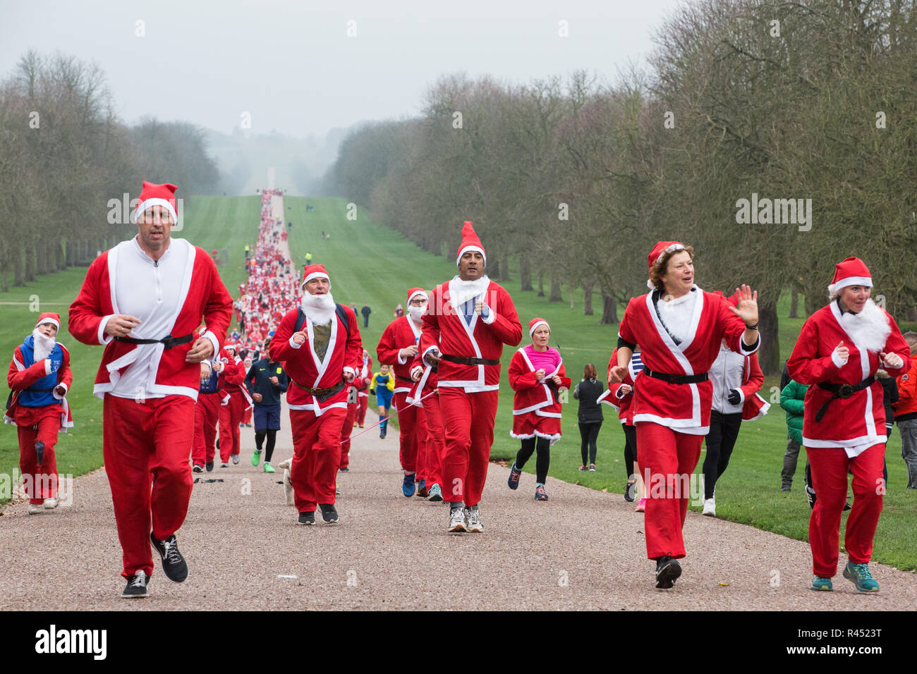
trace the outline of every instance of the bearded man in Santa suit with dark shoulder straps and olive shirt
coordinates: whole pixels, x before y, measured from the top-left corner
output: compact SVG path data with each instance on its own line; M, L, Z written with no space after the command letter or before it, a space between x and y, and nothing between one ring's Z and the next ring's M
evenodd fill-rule
M302 302L283 316L268 348L290 377L287 405L293 430L290 481L298 523L315 524L315 506L326 524L337 522L335 482L341 426L347 418L348 383L362 345L357 316L331 296L320 264L306 265Z

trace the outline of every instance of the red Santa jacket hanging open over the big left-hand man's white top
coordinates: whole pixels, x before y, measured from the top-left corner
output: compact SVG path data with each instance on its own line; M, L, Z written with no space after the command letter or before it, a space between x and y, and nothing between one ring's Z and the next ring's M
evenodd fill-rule
M116 306L115 288L111 277L117 268L116 260L121 253L120 249L126 245L133 243L122 242L115 248L106 250L89 265L80 294L70 305L70 334L83 344L105 345L102 363L95 375L93 387L94 394L100 398L105 396L105 392L112 390L121 372L137 358L136 345L116 341L111 335L105 334L105 323L108 318L121 313ZM195 334L203 316L208 337L213 336L211 341L215 340L216 346L222 347L226 339L226 329L232 321L232 298L220 280L214 260L204 249L192 246L184 239L172 239L171 246L176 245L187 245L189 253L182 279L182 306L175 315L168 334L173 337ZM116 282L130 280L118 279ZM193 341L162 349L152 392L187 395L197 400L201 368L198 363L189 363L184 359L192 346Z

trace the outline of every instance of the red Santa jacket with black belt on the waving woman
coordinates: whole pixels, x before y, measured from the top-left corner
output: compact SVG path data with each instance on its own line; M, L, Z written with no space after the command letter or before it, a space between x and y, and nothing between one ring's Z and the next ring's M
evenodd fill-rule
M691 316L691 333L679 345L659 320L653 293L634 297L627 304L619 335L640 346L641 359L649 370L673 375L706 373L720 352L721 339L737 353L751 352L741 345L746 325L729 310L723 295L706 293L696 286L691 292L698 293ZM760 339L752 351L759 344ZM713 384L710 380L668 383L643 372L640 385L635 387L634 405L635 423L653 422L680 433L705 436L710 430Z

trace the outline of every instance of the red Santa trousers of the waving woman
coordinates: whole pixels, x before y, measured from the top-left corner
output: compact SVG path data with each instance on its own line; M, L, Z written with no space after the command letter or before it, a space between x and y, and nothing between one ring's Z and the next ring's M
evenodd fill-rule
M703 436L676 433L651 422L636 424L637 456L646 481L646 557L683 558L681 527L691 498L691 473L701 458Z

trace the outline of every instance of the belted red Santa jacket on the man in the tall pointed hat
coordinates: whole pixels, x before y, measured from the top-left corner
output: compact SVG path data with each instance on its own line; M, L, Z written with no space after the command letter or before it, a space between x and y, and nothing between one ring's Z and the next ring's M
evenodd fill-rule
M503 288L486 276L476 282L480 289L470 297L487 305L487 318L475 313L470 325L460 315L461 305L454 307L452 297L457 295L468 299L463 282L456 276L452 281L442 283L430 294L424 314L423 334L420 337L420 351L426 356L433 349L461 358L499 360L503 345L518 346L522 340L522 326L516 314L513 300ZM465 284L467 285L467 284ZM439 361L439 388L457 387L466 392L496 391L500 388L500 364L462 365L446 359Z

